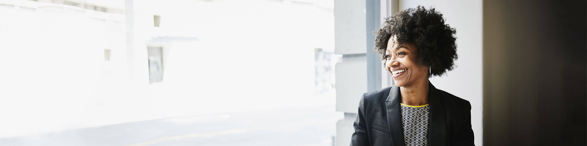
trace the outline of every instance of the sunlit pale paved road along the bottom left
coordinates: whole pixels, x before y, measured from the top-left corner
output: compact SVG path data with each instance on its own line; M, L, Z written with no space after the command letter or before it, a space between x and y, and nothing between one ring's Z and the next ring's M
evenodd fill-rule
M16 145L332 145L334 105L207 114L0 138ZM39 121L42 122L42 121Z

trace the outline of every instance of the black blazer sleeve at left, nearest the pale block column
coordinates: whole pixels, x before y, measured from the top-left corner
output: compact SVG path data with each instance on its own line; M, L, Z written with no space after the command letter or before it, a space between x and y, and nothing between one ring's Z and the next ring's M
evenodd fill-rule
M369 136L367 135L367 124L365 121L365 93L359 102L359 112L353 123L355 133L350 137L350 146L369 145Z

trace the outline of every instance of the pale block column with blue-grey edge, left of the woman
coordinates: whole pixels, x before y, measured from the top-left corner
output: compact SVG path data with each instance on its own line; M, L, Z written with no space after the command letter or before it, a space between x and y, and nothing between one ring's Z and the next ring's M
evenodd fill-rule
M345 117L336 123L336 145L349 145L362 93L380 89L379 55L373 53L373 32L379 29L380 0L335 1L336 110Z

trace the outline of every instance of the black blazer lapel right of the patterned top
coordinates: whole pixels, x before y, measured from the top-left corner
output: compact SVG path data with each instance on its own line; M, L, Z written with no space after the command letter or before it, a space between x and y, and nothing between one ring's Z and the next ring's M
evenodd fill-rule
M448 133L446 130L446 114L444 113L443 102L440 100L437 89L431 83L428 89L428 98L430 101L428 144L446 145Z

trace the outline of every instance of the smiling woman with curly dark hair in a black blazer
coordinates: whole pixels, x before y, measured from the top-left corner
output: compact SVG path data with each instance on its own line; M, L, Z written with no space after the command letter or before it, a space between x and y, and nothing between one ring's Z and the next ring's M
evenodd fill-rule
M474 145L471 103L429 81L454 68L454 34L423 6L386 18L374 51L395 85L363 93L350 145Z

